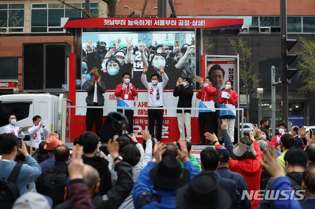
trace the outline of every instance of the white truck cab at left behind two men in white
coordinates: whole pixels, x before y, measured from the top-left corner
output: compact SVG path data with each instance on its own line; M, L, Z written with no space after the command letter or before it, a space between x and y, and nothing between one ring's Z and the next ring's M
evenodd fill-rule
M33 126L32 118L41 116L50 132L60 135L63 142L70 142L70 105L68 95L59 96L51 94L11 94L0 96L0 134L9 124L9 114L15 114L16 126L25 133L24 141L29 145L30 135L28 129ZM46 138L48 137L45 136Z

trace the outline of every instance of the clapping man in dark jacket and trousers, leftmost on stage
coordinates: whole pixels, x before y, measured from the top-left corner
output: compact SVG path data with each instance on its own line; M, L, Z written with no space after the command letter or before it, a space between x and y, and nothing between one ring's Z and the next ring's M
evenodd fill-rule
M105 83L101 81L99 76L99 69L93 68L90 72L91 80L87 81L86 91L88 96L86 97L87 106L104 106L104 96L106 92ZM103 108L87 108L86 113L86 126L87 131L92 131L95 121L96 134L102 128Z

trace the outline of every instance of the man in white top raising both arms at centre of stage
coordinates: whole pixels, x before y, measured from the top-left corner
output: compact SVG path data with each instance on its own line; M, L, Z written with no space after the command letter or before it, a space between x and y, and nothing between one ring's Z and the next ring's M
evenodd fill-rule
M163 89L166 86L168 82L168 77L166 73L164 72L164 67L160 65L159 72L162 76L162 82L158 82L159 75L153 74L151 76L151 82L147 81L146 72L148 71L148 66L145 65L143 68L143 73L141 76L141 82L142 84L148 89L149 93L149 101L148 101L148 107L163 107ZM148 118L149 118L149 131L152 137L155 136L154 131L154 121L155 118L157 118L157 135L155 138L157 138L158 141L161 140L162 136L162 123L163 123L163 109L148 109Z

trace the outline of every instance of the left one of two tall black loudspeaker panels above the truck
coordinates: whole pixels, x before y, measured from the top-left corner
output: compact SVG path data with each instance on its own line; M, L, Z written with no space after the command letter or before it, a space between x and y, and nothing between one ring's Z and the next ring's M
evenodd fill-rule
M23 89L44 90L44 44L23 44Z

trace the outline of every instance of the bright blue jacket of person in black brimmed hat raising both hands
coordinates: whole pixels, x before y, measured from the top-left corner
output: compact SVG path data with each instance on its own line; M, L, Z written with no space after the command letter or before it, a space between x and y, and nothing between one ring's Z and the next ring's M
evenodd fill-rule
M133 187L133 203L135 209L178 209L176 205L176 194L178 189L153 189L153 182L150 179L150 170L157 165L149 162L140 172L138 180ZM190 173L190 181L197 176L199 171L190 160L184 163L184 168Z

